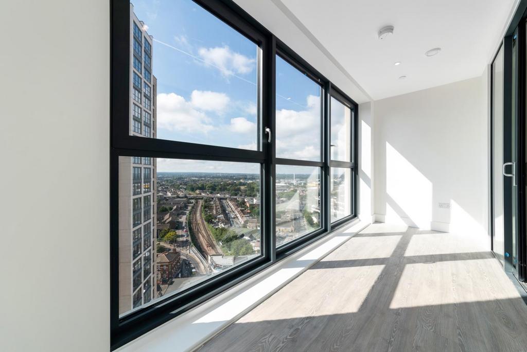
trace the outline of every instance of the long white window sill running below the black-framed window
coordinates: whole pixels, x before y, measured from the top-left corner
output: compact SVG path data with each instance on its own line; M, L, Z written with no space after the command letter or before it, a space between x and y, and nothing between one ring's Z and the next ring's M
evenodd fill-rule
M369 224L355 219L116 351L189 351L201 346Z

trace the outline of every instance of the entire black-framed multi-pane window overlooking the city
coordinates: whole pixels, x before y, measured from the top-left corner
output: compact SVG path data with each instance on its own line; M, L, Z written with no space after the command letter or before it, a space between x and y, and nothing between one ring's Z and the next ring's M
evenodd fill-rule
M112 350L357 214L356 103L200 4L111 3Z

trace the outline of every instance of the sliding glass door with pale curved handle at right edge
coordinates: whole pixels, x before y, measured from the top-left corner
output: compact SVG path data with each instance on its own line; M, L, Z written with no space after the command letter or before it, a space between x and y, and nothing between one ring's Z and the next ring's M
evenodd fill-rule
M505 270L519 278L519 256L523 252L521 216L523 164L520 133L524 97L521 65L523 31L506 36L492 64L492 250Z

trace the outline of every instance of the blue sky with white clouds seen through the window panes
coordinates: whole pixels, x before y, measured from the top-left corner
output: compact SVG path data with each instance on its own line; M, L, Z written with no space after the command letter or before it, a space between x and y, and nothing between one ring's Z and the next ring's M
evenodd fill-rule
M258 46L191 0L133 5L154 41L158 138L257 150ZM277 156L320 160L320 86L281 58L276 107ZM199 163L177 164L186 170L158 169L200 171Z

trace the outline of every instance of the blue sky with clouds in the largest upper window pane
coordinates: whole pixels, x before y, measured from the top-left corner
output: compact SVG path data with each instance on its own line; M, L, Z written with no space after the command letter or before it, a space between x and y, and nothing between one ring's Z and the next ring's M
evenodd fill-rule
M259 150L258 45L191 0L131 7L144 34L143 47L131 36L141 78L157 92L151 136Z

